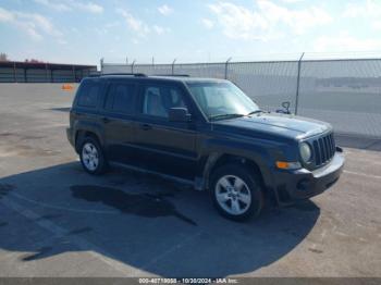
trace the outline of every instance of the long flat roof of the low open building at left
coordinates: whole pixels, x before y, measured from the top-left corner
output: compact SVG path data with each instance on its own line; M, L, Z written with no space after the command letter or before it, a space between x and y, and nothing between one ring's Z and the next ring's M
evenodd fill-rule
M50 63L50 62L24 62L24 61L0 61L0 67L36 69L36 70L96 70L97 65Z

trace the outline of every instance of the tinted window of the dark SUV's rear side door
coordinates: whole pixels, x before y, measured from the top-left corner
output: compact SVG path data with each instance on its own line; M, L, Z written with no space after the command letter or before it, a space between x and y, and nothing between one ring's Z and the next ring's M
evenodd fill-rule
M132 84L111 84L105 109L118 113L132 114L134 92L135 86Z

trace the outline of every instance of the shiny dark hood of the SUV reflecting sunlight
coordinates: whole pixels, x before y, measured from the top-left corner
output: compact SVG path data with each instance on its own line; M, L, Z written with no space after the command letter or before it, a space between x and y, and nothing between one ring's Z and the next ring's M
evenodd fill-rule
M271 133L292 138L306 138L331 129L331 125L321 121L279 113L259 113L230 120L213 122L213 125Z

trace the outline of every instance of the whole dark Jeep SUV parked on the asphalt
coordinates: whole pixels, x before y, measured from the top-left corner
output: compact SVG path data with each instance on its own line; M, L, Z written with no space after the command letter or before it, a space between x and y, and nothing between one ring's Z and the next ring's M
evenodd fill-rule
M262 111L223 79L85 78L66 133L89 174L119 165L187 183L232 220L258 215L265 197L285 206L318 195L344 165L330 124Z

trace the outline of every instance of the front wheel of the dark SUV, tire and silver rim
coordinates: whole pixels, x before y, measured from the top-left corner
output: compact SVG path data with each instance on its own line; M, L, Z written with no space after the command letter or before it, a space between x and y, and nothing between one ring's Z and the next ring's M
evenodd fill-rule
M209 190L220 214L233 221L256 218L263 208L259 175L241 164L218 168L211 175Z

